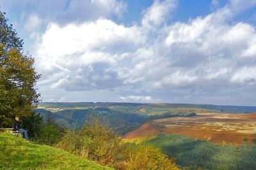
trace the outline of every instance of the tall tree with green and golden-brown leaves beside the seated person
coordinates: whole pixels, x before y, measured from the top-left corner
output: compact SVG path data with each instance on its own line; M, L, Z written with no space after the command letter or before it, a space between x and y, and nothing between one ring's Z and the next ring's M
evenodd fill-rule
M23 42L0 11L0 125L10 126L15 115L29 116L38 103L34 59L22 52Z

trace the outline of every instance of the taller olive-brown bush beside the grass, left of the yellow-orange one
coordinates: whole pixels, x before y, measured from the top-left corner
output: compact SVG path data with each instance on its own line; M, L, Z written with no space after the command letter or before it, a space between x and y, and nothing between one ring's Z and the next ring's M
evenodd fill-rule
M68 131L58 147L102 165L115 166L122 160L121 138L107 128L107 125L93 118L89 125L79 131Z

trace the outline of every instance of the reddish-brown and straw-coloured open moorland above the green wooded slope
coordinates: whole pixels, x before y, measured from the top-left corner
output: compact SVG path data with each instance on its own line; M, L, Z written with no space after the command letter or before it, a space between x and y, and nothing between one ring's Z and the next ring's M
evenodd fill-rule
M218 144L241 145L256 138L256 113L198 113L195 117L172 117L152 120L125 134L131 139L158 132L182 134ZM244 141L247 138L248 141Z

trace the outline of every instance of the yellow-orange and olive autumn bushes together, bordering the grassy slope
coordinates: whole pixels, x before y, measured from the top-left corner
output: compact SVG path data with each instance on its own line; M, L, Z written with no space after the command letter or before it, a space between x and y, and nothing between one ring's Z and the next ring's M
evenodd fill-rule
M115 169L177 169L174 162L152 146L122 143L122 138L98 118L92 118L79 131L68 131L58 147Z

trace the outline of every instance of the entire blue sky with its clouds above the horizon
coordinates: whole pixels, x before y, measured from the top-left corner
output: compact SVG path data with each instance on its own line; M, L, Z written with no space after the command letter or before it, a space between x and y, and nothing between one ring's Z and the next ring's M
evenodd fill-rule
M256 0L0 0L44 102L256 106Z

